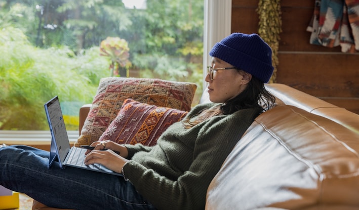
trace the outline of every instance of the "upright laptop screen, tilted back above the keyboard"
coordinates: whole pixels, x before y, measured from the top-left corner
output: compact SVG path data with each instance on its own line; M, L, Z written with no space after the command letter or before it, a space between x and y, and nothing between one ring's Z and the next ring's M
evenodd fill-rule
M70 142L68 140L65 122L62 116L59 98L55 96L45 104L45 108L53 138L52 143L56 144L57 152L62 164L70 149Z

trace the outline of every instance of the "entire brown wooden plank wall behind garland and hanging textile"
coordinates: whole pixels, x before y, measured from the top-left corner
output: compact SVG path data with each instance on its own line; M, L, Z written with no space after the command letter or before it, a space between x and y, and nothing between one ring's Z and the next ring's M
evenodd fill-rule
M258 33L257 1L232 0L232 32ZM314 0L282 0L277 82L359 114L359 53L309 43Z

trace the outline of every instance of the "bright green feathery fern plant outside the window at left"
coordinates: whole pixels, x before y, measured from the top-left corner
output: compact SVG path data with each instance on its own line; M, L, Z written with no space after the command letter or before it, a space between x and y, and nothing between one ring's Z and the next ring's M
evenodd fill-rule
M48 129L44 103L54 95L77 104L75 110L91 103L99 82L96 78L107 74L107 62L98 51L97 47L74 56L65 47L36 48L21 30L0 30L0 129ZM66 123L69 129L77 128Z

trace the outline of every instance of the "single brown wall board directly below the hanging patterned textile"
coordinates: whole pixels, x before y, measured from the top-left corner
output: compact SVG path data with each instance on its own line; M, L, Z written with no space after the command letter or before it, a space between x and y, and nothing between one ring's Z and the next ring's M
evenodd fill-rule
M277 82L317 97L359 97L356 55L280 53Z

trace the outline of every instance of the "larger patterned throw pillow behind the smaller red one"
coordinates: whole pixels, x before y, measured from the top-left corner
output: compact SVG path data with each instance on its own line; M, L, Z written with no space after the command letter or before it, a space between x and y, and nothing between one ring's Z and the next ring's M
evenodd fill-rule
M160 79L107 77L100 80L81 135L74 146L90 145L115 119L125 99L189 111L196 84Z

